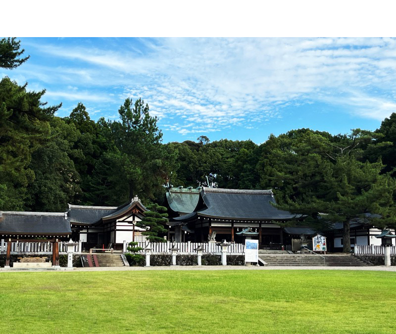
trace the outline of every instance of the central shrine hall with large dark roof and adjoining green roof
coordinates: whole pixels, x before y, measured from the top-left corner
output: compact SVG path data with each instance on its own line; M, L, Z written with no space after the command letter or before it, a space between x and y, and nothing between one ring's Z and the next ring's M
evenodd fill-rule
M246 236L238 232L250 227L260 246L281 245L284 233L277 223L301 219L276 208L271 190L170 188L166 197L178 214L169 222L169 238L176 242L203 242L216 232L216 240L243 243Z

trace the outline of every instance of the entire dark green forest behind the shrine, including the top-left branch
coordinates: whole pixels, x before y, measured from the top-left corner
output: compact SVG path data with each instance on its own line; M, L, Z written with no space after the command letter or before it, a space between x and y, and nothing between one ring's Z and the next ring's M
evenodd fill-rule
M27 60L19 43L0 41L0 67ZM347 229L360 214L380 215L373 219L381 217L381 226L396 221L396 113L374 132L297 129L260 145L205 136L162 143L143 99L127 98L117 121L96 122L83 102L61 118L54 116L61 104L44 100L45 91L1 79L0 210L120 205L133 195L163 203L167 186L203 185L273 189L282 208L306 214L306 221L327 213Z

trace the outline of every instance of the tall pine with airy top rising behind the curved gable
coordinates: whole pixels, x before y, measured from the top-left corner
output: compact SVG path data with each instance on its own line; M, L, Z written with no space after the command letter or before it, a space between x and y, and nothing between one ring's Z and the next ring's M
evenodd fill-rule
M168 152L161 144L162 132L157 118L148 113L148 104L127 98L119 109L121 122L110 124L117 151L112 152L116 176L124 187L123 196L135 194L154 198L155 192L168 181L170 165Z

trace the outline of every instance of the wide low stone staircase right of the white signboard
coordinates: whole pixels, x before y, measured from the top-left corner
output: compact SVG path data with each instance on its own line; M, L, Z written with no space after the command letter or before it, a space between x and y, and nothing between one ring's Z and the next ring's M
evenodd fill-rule
M286 252L287 253L287 252ZM308 254L258 254L258 257L267 263L267 266L330 266L330 267L357 267L370 264L352 255L318 255Z

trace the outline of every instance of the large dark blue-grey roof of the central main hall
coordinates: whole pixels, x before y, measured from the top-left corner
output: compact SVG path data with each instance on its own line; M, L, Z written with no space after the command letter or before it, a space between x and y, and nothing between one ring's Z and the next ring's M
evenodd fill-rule
M277 209L272 190L239 190L203 187L194 212L174 218L186 221L201 217L238 220L291 220L296 215Z

